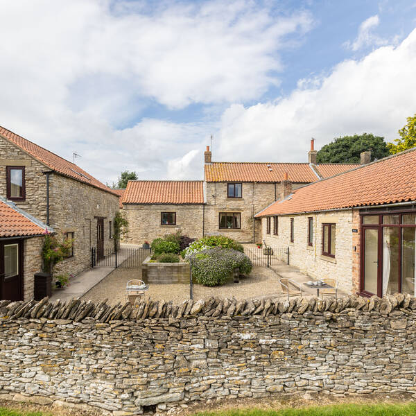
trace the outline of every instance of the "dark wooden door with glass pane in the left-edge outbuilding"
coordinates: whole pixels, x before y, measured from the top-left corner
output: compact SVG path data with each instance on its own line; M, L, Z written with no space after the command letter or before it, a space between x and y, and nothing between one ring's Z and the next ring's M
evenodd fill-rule
M23 300L23 241L1 241L0 260L1 299Z

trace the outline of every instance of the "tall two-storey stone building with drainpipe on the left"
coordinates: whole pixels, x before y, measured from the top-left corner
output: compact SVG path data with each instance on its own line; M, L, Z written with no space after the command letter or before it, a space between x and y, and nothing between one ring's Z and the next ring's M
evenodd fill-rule
M113 218L119 196L82 168L0 128L0 196L73 239L73 252L58 272L78 274L113 247Z

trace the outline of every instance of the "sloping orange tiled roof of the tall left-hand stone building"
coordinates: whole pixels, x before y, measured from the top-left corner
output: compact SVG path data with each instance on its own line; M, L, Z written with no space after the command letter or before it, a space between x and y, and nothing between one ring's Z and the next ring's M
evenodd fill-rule
M14 132L11 132L1 126L0 137L7 139L12 144L15 144L15 146L21 148L21 150L24 150L26 153L37 159L37 161L41 162L53 171L60 173L61 175L69 176L72 179L89 184L92 187L103 189L103 191L114 193L112 189L106 187L105 184L101 183L92 175L89 175L89 173L85 172L76 164L55 155L55 153L52 153L49 150L46 150L45 148L34 144L32 141L28 141L27 139L24 139L24 137L16 135Z

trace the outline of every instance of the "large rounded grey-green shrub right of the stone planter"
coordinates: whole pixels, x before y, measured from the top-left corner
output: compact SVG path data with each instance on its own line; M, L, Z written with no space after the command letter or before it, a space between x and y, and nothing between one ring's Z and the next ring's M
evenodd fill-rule
M193 277L205 286L224 284L235 268L239 268L244 275L248 275L252 270L250 259L242 252L230 248L202 250L192 254L190 261Z

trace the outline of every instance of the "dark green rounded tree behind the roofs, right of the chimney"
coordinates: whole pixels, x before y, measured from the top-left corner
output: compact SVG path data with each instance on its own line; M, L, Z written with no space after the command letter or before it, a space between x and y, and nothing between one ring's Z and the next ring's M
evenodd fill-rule
M333 139L318 151L316 159L318 163L360 163L360 153L365 150L372 150L371 160L389 155L384 137L363 133Z

